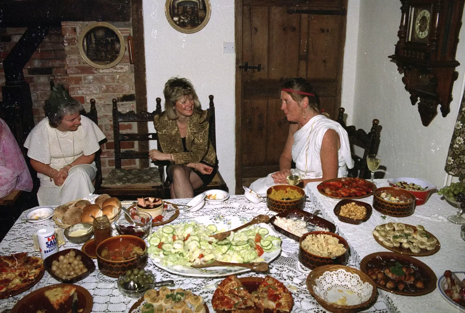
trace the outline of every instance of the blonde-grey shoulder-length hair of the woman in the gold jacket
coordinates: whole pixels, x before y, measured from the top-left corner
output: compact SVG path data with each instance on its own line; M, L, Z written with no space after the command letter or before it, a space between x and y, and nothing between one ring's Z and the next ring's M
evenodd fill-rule
M192 95L194 98L194 108L200 109L199 97L197 97L191 81L186 78L172 77L169 79L163 89L163 95L165 96L165 113L170 120L179 118L174 108L176 101L184 96Z

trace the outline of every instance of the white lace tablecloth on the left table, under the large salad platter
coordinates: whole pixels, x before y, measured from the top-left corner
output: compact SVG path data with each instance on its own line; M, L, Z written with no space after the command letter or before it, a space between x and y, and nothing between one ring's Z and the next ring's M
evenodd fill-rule
M322 206L322 203L319 203L318 200L315 200L312 204L311 202L306 203L306 211L313 212L315 210L315 205L319 207ZM185 204L188 199L179 199L179 200L170 200L173 203ZM0 243L0 249L2 254L7 255L15 252L24 252L27 251L30 255L40 256L39 252L34 252L33 250L33 241L32 234L41 228L40 225L33 225L22 219L25 217L25 213L22 213L20 218L13 225L12 229L7 233L7 236ZM180 213L179 217L173 221L177 223L180 221L191 220L194 217L199 217L203 215L240 215L246 218L252 219L252 217L258 214L268 214L273 216L275 213L268 210L265 203L252 204L244 198L243 195L231 196L228 200L219 203L211 204L206 203L206 205L197 212L187 212ZM46 226L55 226L53 220L47 221ZM158 228L155 227L154 231ZM113 234L116 234L116 231L113 229ZM270 263L270 275L277 278L288 286L289 290L292 292L294 297L294 308L292 312L295 313L323 313L326 312L316 300L312 298L308 292L305 284L306 277L310 270L305 266L302 266L299 262L298 251L299 244L296 241L293 241L287 238L284 235L280 235L282 240L282 252L279 257ZM442 241L441 241L442 243ZM60 249L67 248L77 248L80 249L82 245L76 245L71 242L66 242L65 246L61 246ZM97 261L95 260L97 266ZM356 261L349 258L348 266L356 266ZM174 275L167 273L163 270L160 270L158 267L154 266L149 260L146 269L149 269L155 275L156 281L160 280L174 280L177 287L182 287L184 289L190 289L193 293L196 293L204 297L210 312L213 313L213 308L211 305L211 300L213 292L218 286L219 282L223 278L215 279L204 279L204 278L190 278ZM265 274L262 273L243 273L239 274L239 277L243 276L259 276L264 277ZM32 292L33 290L39 289L43 286L52 285L59 283L57 280L53 279L47 272L44 274L43 278L31 289L27 290L24 293L21 293L17 296L13 296L8 299L0 300L0 312L4 309L11 309L14 304L24 297L27 293ZM107 277L101 274L98 268L91 273L85 280L81 280L76 283L76 285L83 286L93 295L93 309L92 312L128 312L133 303L137 300L134 298L128 298L123 296L117 286L116 279ZM379 297L378 301L374 306L370 307L366 312L377 312L377 313L388 313L389 310L386 308L383 300Z

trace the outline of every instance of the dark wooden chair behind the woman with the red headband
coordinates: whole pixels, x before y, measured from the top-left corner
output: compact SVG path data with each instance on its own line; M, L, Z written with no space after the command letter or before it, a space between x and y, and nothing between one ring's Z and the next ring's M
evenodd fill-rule
M352 159L354 160L353 168L349 168L349 177L359 177L364 179L370 178L370 171L366 165L366 156L368 154L376 154L378 151L379 140L378 140L378 124L379 120L374 119L372 129L369 133L366 133L363 129L357 129L355 126L346 126L344 122L343 107L339 108L339 115L337 122L345 129L349 135L349 142L351 146L358 146L364 149L363 157L358 156L353 152L352 147Z

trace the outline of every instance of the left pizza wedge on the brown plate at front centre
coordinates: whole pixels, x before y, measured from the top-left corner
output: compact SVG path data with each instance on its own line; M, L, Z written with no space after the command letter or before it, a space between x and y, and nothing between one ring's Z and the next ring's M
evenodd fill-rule
M212 306L215 310L253 309L251 294L242 285L236 275L226 277L215 293L213 293ZM243 312L241 310L241 312Z

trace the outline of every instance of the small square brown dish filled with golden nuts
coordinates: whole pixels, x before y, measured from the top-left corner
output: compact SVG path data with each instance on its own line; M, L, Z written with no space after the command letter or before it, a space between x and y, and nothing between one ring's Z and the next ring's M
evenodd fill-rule
M368 203L343 199L334 206L334 214L341 222L359 225L370 219L372 215L372 206Z

